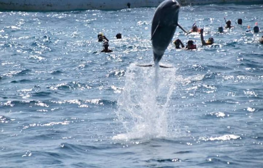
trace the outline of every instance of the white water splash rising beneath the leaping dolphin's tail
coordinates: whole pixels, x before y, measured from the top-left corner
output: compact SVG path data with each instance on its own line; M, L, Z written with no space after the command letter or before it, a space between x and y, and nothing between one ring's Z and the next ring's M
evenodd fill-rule
M113 139L166 137L168 107L174 90L176 68L145 68L131 64L116 111L125 132Z

